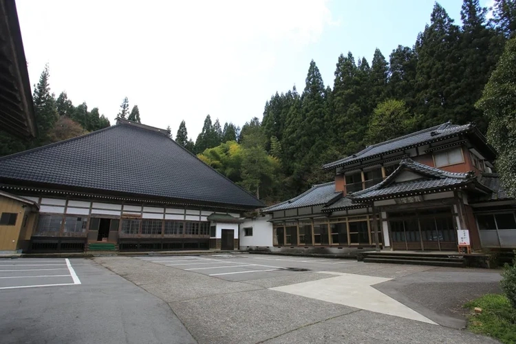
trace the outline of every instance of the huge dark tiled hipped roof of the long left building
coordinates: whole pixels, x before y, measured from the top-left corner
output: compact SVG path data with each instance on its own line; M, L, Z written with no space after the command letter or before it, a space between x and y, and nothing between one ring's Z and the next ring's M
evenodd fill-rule
M122 124L0 158L0 182L44 184L168 200L264 206L166 131Z

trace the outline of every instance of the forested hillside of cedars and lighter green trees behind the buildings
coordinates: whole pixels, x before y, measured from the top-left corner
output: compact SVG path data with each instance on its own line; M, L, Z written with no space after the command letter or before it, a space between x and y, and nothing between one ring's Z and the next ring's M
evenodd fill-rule
M492 116L475 103L516 30L516 1L495 0L488 19L479 0L464 0L461 19L455 23L436 3L411 47L398 45L387 57L376 49L372 61L352 52L336 56L334 80L327 84L311 61L304 89L273 94L261 120L254 117L240 129L208 115L195 142L182 121L175 140L272 203L332 180L321 165L368 144L448 120L475 122L486 133ZM75 107L64 92L55 98L47 69L34 90L34 107L39 138L22 142L0 133L0 155L109 126L98 109ZM118 116L140 122L127 98Z

